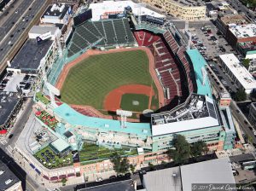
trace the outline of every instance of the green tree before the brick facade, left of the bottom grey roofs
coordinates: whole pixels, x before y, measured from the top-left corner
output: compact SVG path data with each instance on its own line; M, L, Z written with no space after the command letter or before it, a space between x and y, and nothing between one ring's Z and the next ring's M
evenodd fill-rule
M119 153L114 153L111 162L113 163L113 170L117 174L125 174L129 171L129 160L126 157L122 159Z

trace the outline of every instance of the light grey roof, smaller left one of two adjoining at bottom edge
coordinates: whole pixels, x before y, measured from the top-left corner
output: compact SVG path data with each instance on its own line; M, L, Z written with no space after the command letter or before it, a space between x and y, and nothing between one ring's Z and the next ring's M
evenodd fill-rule
M179 167L160 171L150 171L143 175L143 182L147 191L181 191L182 181Z

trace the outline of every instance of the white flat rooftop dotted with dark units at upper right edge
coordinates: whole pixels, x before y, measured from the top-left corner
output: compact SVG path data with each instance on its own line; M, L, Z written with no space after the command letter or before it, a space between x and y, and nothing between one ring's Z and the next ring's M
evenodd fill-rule
M256 24L236 25L229 24L230 32L232 32L236 38L253 38L256 37Z

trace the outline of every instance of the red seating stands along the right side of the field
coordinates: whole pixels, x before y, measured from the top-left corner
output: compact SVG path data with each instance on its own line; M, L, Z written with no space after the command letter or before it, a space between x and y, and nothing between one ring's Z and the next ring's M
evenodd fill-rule
M162 33L162 38L160 35L144 30L134 32L134 36L139 46L148 47L154 55L154 68L165 90L165 104L171 104L171 107L177 106L177 97L186 96L183 94L186 86L183 83L188 84L189 93L194 90L189 61L185 56L186 49L178 45L168 30Z

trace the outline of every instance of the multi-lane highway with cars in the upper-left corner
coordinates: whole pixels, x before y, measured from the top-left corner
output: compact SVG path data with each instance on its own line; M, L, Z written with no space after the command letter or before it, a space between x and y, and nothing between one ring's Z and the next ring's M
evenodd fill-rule
M9 51L15 47L15 43L20 38L20 35L32 22L33 15L38 13L44 3L42 0L34 0L33 3L30 0L24 0L18 8L17 14L11 15L6 20L7 23L1 26L3 32L1 32L0 39L3 40L0 42L0 61L3 61L6 55L9 55ZM31 10L29 10L30 8ZM14 22L15 24L13 24Z

